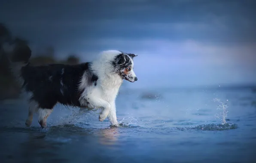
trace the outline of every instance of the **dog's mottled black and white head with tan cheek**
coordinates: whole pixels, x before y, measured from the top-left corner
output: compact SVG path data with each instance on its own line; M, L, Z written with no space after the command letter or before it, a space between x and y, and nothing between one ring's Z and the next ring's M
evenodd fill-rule
M134 73L134 62L133 58L137 55L135 54L126 54L120 51L121 54L116 55L113 65L115 72L117 72L122 79L125 79L129 82L135 82L138 80Z

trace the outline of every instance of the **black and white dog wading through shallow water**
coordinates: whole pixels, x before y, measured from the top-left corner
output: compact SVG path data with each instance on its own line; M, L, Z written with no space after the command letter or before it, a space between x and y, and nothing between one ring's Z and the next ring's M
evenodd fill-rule
M10 58L11 69L24 91L30 95L28 118L25 123L27 127L31 125L35 112L38 113L41 127L46 127L47 118L57 103L101 109L99 121L108 117L111 125L118 125L116 96L123 79L129 82L137 81L133 71L133 58L137 55L109 50L101 52L98 59L92 62L30 66L28 59L31 51L28 46L21 50L3 49L6 54L16 53L16 57ZM30 52L25 60L17 57L24 51Z

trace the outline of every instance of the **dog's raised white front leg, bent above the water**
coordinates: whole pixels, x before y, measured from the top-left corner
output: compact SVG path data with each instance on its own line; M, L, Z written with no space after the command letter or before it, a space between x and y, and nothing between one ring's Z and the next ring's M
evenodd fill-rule
M93 106L93 108L102 109L101 114L99 115L99 121L104 121L107 118L111 108L110 103L98 97L88 98L88 103L88 105Z

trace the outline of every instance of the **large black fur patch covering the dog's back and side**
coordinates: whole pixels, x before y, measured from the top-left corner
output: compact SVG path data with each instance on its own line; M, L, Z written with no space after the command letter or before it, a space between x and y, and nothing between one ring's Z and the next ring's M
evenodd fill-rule
M79 90L78 86L83 73L87 73L88 86L96 86L98 81L98 76L92 73L90 64L24 66L21 69L23 88L33 93L30 100L35 100L42 109L52 109L56 103L81 106L79 97L83 90Z

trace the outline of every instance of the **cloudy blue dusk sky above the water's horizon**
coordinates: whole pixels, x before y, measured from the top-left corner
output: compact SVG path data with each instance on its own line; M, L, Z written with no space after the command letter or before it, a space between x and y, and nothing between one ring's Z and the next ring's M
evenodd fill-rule
M91 60L118 49L134 58L132 87L256 83L253 0L3 0L0 22L57 57Z

